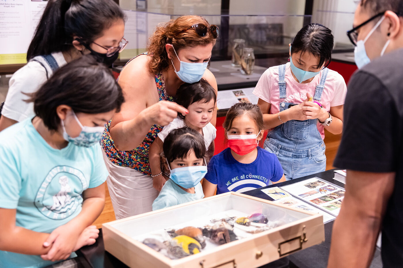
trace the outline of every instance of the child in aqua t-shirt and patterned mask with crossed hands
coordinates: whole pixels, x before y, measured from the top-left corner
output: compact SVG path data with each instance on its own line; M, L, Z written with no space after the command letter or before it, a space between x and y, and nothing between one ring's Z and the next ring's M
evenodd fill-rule
M1 267L45 267L95 243L108 176L99 143L124 101L92 56L27 95L35 116L0 132Z

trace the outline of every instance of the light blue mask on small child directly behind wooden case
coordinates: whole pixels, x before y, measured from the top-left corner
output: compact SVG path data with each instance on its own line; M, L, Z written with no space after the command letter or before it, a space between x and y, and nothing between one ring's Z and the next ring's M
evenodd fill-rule
M169 178L186 189L195 187L207 173L207 166L177 167L171 170L168 163L168 168L171 171Z

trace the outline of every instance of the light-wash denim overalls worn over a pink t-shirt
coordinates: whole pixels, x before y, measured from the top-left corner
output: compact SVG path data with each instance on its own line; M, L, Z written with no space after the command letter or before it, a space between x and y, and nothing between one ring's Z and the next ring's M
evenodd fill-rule
M285 69L286 64L278 66L280 100L287 96ZM323 70L320 83L316 86L316 101L320 101L322 97L328 71L328 68ZM290 104L294 103L280 102L280 111L288 109ZM316 126L317 122L317 119L289 120L269 131L264 147L277 155L287 180L325 171L326 148Z

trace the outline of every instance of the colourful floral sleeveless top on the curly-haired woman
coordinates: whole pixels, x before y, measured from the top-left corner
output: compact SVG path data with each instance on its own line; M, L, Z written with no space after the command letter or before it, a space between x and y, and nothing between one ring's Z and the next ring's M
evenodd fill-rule
M127 62L127 64L129 62ZM164 77L162 76L162 73L155 74L155 83L157 85L158 95L160 96L159 101L175 101L174 97L166 94ZM116 165L131 167L143 174L151 175L150 162L148 161L148 150L150 149L152 142L157 137L157 134L162 130L163 126L153 125L147 136L145 136L143 142L134 150L120 151L114 146L113 140L109 133L111 121L112 120L105 125L105 130L101 141L102 148L104 148L109 160Z

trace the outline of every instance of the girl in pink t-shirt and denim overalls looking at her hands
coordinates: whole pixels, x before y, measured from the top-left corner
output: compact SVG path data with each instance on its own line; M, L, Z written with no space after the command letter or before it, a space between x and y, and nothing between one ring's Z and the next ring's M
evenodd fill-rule
M323 25L304 26L289 44L290 63L270 67L253 94L269 131L265 149L275 153L287 180L325 171L324 129L340 134L347 87L326 68L333 35Z

